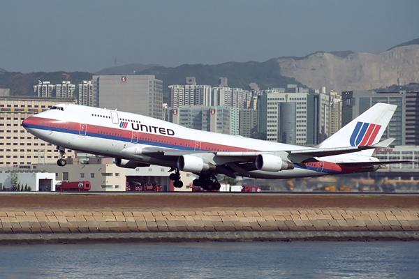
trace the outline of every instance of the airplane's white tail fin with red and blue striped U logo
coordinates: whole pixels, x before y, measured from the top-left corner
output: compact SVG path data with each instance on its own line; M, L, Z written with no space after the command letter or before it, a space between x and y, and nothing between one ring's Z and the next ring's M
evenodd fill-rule
M365 146L376 144L387 128L397 105L377 103L353 119L337 131L337 133L328 137L324 142L318 144L318 148L333 148L345 146ZM372 156L374 149L362 151L362 155Z

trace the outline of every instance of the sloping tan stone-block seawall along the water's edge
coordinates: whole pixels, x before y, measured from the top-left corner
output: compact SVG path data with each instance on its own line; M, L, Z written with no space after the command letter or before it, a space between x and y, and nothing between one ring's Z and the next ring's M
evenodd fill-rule
M419 240L418 208L0 207L0 243Z

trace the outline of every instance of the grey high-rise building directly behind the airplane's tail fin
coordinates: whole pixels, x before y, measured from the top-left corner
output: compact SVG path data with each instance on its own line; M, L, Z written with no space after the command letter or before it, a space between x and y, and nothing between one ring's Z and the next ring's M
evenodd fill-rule
M343 91L342 96L342 126L351 122L376 103L397 105L382 139L394 137L391 146L406 144L406 94L381 93L375 91Z

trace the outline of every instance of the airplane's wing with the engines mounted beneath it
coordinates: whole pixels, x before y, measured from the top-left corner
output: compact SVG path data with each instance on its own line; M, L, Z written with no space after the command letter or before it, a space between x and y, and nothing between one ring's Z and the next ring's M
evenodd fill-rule
M161 149L156 147L146 147L142 149L142 154L159 158L161 160L177 161L182 158L182 165L188 165L185 169L189 172L198 174L199 167L196 165L206 165L207 169L212 169L221 174L235 177L250 176L249 171L264 170L268 172L277 172L281 169L293 169L294 165L307 162L309 160L317 160L325 156L336 156L340 154L359 152L366 149L376 149L387 147L394 139L388 139L383 142L371 146L351 146L351 147L335 147L326 149L297 149L288 151L184 151L175 149ZM399 163L399 162L397 162ZM345 164L345 163L342 163ZM378 162L365 162L358 164L365 167L372 165L384 165ZM346 163L349 165L357 165L355 162Z

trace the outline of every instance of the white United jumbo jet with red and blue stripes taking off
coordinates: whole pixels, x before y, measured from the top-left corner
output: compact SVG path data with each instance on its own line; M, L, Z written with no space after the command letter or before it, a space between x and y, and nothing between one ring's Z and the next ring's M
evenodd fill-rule
M396 105L377 103L317 146L296 146L185 128L148 116L73 104L54 105L24 119L29 133L57 146L57 164L66 165L65 149L115 158L118 167L170 167L170 179L182 188L179 171L199 176L193 185L219 189L216 175L255 179L291 179L374 172L372 157L394 138L378 142Z

